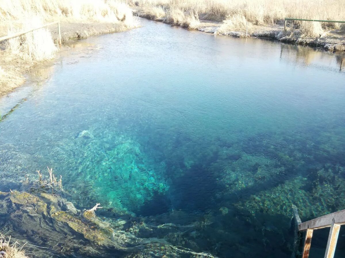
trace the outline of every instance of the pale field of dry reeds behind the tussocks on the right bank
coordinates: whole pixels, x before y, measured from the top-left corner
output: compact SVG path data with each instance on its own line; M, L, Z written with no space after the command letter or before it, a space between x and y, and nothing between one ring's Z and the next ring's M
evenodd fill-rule
M195 10L201 17L223 21L228 15L244 13L253 24L270 24L285 17L305 19L345 19L342 0L128 0L132 5L174 7Z

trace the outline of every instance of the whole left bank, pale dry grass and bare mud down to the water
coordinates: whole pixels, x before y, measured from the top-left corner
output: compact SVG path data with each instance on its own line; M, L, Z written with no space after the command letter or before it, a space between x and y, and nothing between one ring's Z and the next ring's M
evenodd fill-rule
M132 9L119 1L18 0L0 7L0 37L59 20L62 42L138 26ZM57 25L51 25L22 36L0 42L0 96L26 81L24 74L38 63L49 62L59 51Z

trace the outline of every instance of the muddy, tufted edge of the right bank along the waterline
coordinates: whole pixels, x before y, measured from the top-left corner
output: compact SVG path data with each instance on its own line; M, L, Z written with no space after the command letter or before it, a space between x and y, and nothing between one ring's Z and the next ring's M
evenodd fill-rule
M213 22L209 20L200 20L199 24L193 25L193 28L189 28L188 25L180 25L174 24L172 22L167 22L165 18L155 18L147 13L141 12L140 9L135 11L141 18L145 18L152 21L163 22L166 24L178 26L185 28L187 30L198 30L201 32L206 32L210 34L216 35L223 35L223 36L233 36L233 37L246 37L246 32L242 31L229 31L227 33L220 33L218 32L218 28L220 27L220 22ZM308 37L300 37L294 33L294 30L287 28L287 31L284 32L284 25L270 25L270 26L258 26L253 25L253 32L248 32L248 37L252 38L260 38L260 39L271 39L277 40L284 43L292 43L292 44L300 44L300 45L308 45L313 47L319 47L324 50L328 51L338 51L342 52L345 51L345 33L337 33L335 30L329 30L325 32L321 37L318 38L308 38ZM298 30L297 30L298 32Z

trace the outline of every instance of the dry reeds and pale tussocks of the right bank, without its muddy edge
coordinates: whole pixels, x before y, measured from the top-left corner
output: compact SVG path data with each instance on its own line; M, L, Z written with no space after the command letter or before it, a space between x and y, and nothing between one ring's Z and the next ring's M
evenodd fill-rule
M198 13L198 19L222 22L218 33L231 30L245 31L244 21L250 25L283 24L286 17L300 19L345 20L343 0L127 0L133 6L160 8L166 13L166 22L181 25L188 23L190 13ZM162 17L160 12L160 17ZM319 23L320 24L320 23ZM320 26L294 23L303 30L301 36L317 37ZM299 28L300 26L300 28ZM323 23L327 28L339 28L339 24ZM189 27L189 26L188 26ZM195 26L191 26L195 27ZM249 29L249 28L248 28ZM322 32L321 32L322 34Z

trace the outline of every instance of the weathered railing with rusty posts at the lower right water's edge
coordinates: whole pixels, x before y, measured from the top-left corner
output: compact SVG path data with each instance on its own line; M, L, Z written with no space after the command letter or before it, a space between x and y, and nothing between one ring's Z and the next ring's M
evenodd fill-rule
M295 205L293 205L293 211L295 215L295 222L298 225L298 230L306 231L302 258L309 257L309 250L310 245L312 243L313 231L315 229L325 227L330 227L325 258L333 258L335 253L335 247L337 245L340 226L345 224L345 209L339 212L334 212L318 218L314 218L310 221L306 221L303 223L300 221L297 208Z

